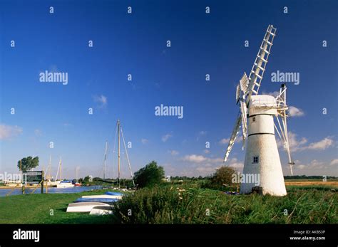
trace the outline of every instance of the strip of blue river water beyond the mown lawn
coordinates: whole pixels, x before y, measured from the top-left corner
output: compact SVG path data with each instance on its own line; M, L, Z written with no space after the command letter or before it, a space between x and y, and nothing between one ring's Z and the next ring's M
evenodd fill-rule
M71 188L56 188L56 187L48 187L48 194L62 194L62 193L78 193L82 191L91 191L93 189L102 189L102 186L76 186L76 187L71 187ZM0 189L0 196L6 196L9 191L12 189ZM33 189L31 188L26 188L25 189L25 194L30 194ZM46 191L46 189L43 189L43 191ZM34 191L34 194L40 194L41 193L41 188L39 187ZM11 196L22 194L21 188L14 189L13 192L11 192Z

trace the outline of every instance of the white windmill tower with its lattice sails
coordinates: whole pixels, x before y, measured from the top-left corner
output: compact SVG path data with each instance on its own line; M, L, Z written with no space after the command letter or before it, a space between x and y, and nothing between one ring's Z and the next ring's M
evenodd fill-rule
M240 106L240 112L230 137L224 162L227 161L239 128L242 126L242 149L247 142L242 176L253 178L259 175L260 184L258 186L261 187L262 194L285 196L287 191L275 139L275 130L284 143L292 174L292 165L295 163L291 161L287 137L287 88L283 84L280 94L276 98L271 95L258 95L275 33L276 28L272 25L268 26L249 78L244 73L237 85L236 102ZM274 117L277 125L274 122ZM247 181L246 179L241 183L240 193L248 194L255 186L257 186L257 181Z

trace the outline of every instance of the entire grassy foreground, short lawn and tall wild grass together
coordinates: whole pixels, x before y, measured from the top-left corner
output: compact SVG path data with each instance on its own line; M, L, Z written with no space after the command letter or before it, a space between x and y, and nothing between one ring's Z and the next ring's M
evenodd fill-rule
M194 184L141 189L126 196L114 216L66 213L88 194L32 194L0 197L1 224L337 224L335 186L287 186L283 197L227 195ZM131 209L131 216L128 215ZM53 214L51 215L51 210Z

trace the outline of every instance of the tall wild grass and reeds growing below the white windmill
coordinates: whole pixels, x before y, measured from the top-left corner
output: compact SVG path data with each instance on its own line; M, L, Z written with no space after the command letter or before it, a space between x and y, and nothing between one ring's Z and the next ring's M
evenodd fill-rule
M143 189L119 202L115 215L124 224L338 223L337 193L327 187L292 186L283 197L232 196L188 186Z

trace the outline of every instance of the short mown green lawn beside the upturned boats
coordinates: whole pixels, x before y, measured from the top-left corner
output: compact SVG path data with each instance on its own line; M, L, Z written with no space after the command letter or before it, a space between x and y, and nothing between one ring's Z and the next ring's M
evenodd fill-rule
M103 194L107 190L76 194L31 194L0 197L0 224L106 224L111 216L66 213L78 197ZM51 215L51 210L53 215Z

